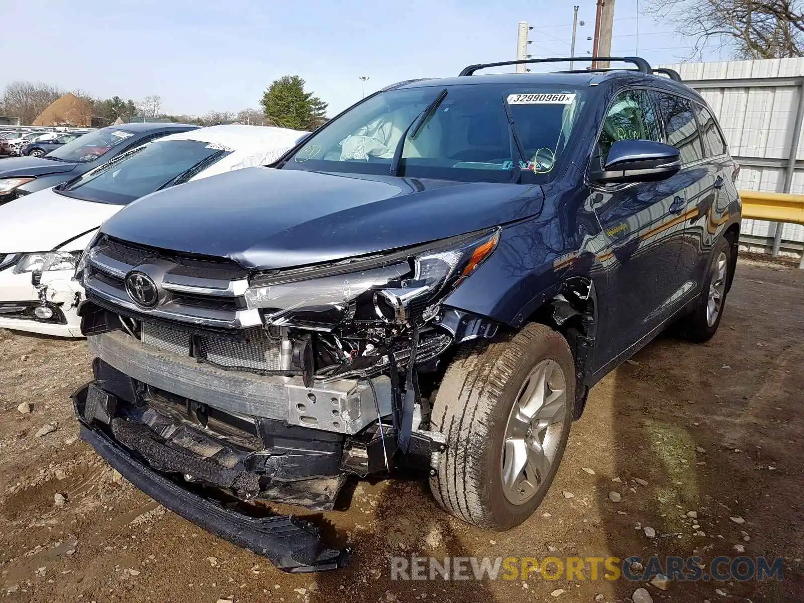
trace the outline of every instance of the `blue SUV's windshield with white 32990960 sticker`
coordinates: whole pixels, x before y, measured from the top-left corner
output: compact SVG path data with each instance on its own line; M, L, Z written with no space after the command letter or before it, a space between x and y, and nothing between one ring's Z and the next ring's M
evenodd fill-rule
M552 84L381 92L314 133L283 167L388 174L402 134L423 119L408 131L397 175L506 182L516 165L532 181L560 160L584 99L583 88Z

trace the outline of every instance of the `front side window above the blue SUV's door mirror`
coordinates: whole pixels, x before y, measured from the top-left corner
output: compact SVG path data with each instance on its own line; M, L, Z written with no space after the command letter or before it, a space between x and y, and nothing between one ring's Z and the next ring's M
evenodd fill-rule
M658 142L656 116L646 90L620 92L609 107L601 137L597 141L601 168L614 142L626 139Z

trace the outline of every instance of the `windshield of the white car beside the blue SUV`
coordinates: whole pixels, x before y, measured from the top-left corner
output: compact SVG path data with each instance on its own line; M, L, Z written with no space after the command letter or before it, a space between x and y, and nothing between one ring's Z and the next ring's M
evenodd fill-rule
M231 152L209 142L155 141L122 154L57 191L78 199L126 205L162 187L187 182Z

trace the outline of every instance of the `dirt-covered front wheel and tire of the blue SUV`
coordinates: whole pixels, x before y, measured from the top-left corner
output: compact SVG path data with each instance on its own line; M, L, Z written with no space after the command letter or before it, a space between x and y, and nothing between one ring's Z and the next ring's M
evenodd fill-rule
M532 467L528 463L524 472L515 474L515 452L521 449L516 436L522 433L516 429L527 424L511 424L513 409L520 394L530 391L525 386L542 369L556 391L563 385L564 405L556 406L560 396L550 402L556 391L545 389L547 402L531 420L555 412L548 419L553 422L547 428L531 423L523 446L531 451L534 447L527 445L528 438L544 435L550 462L547 466L536 462ZM566 339L548 326L528 324L506 341L463 347L447 368L433 401L430 429L446 435L437 475L430 478L437 502L458 519L478 527L504 531L523 523L539 507L556 475L569 437L574 400L572 352ZM522 405L519 408L525 412ZM510 439L509 428L513 429ZM507 474L517 476L513 482L509 480L515 486L503 484ZM520 478L524 478L522 482Z

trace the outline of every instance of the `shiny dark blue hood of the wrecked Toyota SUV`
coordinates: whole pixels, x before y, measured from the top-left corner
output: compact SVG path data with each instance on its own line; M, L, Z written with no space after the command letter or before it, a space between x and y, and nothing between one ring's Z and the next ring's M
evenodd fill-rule
M158 191L109 236L278 269L426 243L535 215L539 186L252 167Z

